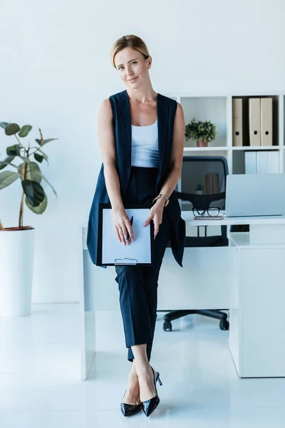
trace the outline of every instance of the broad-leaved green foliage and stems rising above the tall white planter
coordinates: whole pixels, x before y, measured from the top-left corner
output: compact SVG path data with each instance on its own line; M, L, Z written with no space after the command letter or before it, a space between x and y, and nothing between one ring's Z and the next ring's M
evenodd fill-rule
M36 146L30 146L28 148L24 146L22 139L26 138L31 131L31 125L24 125L20 128L17 123L0 122L1 128L4 128L6 136L14 136L16 138L16 144L6 148L6 158L0 161L0 170L6 169L7 167L13 168L14 170L4 170L0 173L0 190L6 188L8 185L14 183L18 178L21 180L21 186L23 193L21 196L21 204L19 210L19 225L17 229L24 229L23 226L23 210L24 200L26 205L33 213L42 214L46 210L48 198L46 196L43 187L41 186L41 180L48 180L41 173L41 169L38 164L43 162L43 159L48 163L48 156L43 152L43 146L57 138L43 139L41 129L39 129L40 138L36 138ZM33 156L33 161L31 160ZM19 165L14 164L14 159L21 161ZM51 186L53 193L56 195L56 190ZM25 198L26 195L26 198ZM57 197L57 195L56 195ZM4 230L0 220L0 229Z

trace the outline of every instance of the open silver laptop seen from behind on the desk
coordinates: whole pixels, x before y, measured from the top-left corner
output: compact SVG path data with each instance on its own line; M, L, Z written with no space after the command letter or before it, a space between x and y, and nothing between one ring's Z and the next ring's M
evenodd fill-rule
M285 215L285 174L231 174L226 182L226 217Z

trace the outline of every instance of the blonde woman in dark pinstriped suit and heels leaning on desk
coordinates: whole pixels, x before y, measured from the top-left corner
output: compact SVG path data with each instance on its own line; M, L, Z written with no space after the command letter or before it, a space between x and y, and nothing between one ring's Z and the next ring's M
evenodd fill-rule
M150 82L152 57L138 36L113 44L111 61L127 90L105 99L98 111L103 163L91 206L87 245L97 264L98 204L110 203L114 233L122 245L135 236L124 203L152 203L144 225L154 223L155 260L150 266L115 266L128 360L133 362L121 412L149 416L160 402L150 366L157 310L157 280L169 240L182 266L185 222L174 193L180 179L185 121L180 103L156 93ZM127 239L129 234L130 239Z

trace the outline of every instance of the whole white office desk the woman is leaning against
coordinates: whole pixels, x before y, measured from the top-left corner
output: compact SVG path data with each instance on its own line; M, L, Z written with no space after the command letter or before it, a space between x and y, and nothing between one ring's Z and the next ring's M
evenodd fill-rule
M229 247L185 248L183 267L167 248L157 309L229 308L229 351L239 377L285 377L285 215L194 220L192 212L185 211L182 217L187 226L249 224L250 231L228 232ZM83 278L81 372L86 379L95 356L94 311L120 307L114 268L93 265L86 248L86 224L78 225L78 230Z

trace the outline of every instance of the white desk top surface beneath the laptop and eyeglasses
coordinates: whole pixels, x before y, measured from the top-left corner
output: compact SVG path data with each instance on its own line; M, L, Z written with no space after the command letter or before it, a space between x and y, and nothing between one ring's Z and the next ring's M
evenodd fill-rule
M224 214L224 211L220 212ZM217 225L270 225L285 224L285 215L260 215L251 217L225 217L223 219L195 220L192 211L182 211L181 217L187 226L217 226Z

